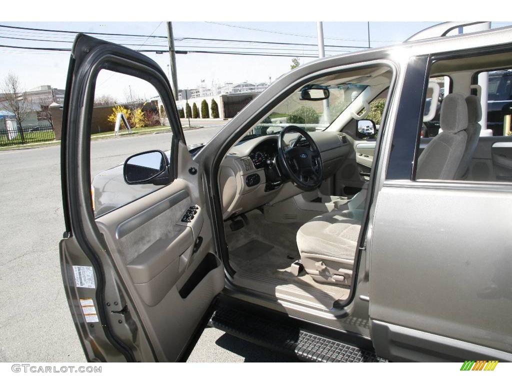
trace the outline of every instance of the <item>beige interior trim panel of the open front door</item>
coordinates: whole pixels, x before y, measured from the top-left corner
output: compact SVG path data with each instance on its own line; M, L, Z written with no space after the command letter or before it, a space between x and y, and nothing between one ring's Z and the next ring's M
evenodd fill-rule
M96 219L135 306L147 316L152 345L163 361L174 361L181 354L224 286L224 270L214 257L215 267L196 278L186 297L180 294L214 249L194 187L187 180L176 179ZM191 205L198 206L197 214L191 223L181 222ZM199 237L202 243L194 252Z

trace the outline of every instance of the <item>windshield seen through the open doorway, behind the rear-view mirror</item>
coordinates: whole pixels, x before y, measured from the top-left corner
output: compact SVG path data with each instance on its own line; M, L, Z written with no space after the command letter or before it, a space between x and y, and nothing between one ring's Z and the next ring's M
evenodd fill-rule
M364 91L367 86L331 78L318 79L295 90L276 106L263 120L253 127L241 141L258 136L273 135L288 125L296 125L305 131L323 131ZM304 99L304 90L311 87L328 90L324 100Z

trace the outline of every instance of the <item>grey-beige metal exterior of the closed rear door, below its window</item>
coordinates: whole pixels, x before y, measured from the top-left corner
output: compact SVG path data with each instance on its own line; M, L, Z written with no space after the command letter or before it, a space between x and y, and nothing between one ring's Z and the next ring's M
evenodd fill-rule
M512 359L511 211L510 190L386 182L369 244L377 354L398 361L457 361L475 352ZM429 334L430 347L418 349L417 332L392 332L391 325ZM450 340L452 347L466 344L442 348Z

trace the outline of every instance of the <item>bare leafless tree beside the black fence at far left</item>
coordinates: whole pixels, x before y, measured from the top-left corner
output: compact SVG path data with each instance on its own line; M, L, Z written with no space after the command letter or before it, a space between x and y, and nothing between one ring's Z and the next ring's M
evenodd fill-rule
M2 108L14 114L22 142L25 142L22 123L27 119L32 110L31 100L27 98L25 91L22 91L18 76L12 72L9 72L2 84L0 84L0 92L3 93Z

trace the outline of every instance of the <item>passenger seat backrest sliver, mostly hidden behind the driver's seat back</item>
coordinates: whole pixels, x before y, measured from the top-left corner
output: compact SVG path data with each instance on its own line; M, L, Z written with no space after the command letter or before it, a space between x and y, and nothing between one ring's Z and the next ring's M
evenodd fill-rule
M467 96L466 105L466 148L464 150L464 154L462 155L462 159L460 160L457 172L455 173L455 180L461 180L465 177L467 169L469 168L471 160L473 159L473 155L475 154L478 145L478 138L480 137L480 131L482 130L482 126L479 123L480 119L482 118L482 105L480 104L480 99L475 95Z

